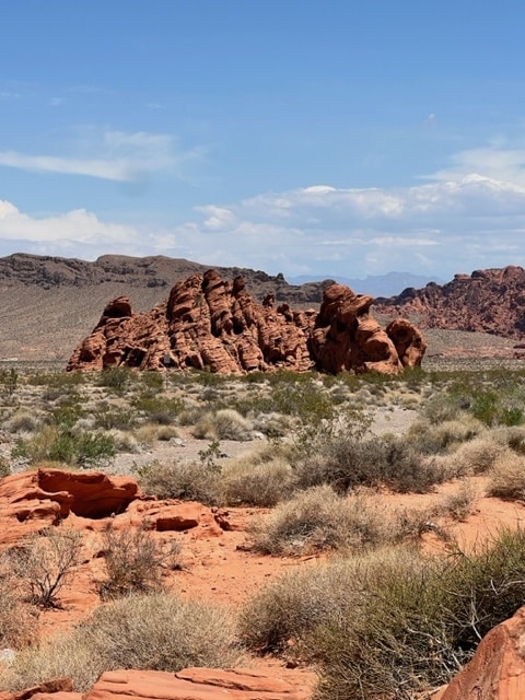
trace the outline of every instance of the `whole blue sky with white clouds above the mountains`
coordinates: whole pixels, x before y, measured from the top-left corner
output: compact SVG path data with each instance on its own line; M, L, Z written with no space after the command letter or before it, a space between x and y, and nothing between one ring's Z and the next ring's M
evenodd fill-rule
M0 255L525 266L523 2L0 4Z

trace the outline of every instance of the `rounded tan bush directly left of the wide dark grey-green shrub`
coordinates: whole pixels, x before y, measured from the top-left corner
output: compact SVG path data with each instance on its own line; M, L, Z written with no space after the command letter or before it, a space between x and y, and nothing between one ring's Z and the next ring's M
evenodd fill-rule
M292 467L279 454L248 454L222 465L219 489L221 503L271 508L292 491Z

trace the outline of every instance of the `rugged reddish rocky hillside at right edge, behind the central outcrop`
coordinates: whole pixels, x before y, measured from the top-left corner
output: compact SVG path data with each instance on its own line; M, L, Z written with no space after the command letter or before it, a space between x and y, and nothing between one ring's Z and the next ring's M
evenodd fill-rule
M447 284L430 282L398 296L377 299L378 314L408 316L424 328L525 336L525 270L509 266L456 275Z

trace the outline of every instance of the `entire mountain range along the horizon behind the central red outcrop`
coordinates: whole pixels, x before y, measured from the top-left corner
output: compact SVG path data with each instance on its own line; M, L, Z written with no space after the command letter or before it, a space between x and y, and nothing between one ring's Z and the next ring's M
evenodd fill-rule
M105 255L93 262L26 254L0 258L0 360L66 360L109 301L126 295L133 311L150 310L167 298L175 282L209 267L164 256ZM257 301L272 294L277 303L307 308L318 305L324 289L338 281L374 296L375 312L408 316L427 328L520 339L525 335L525 272L517 267L456 275L443 285L407 272L361 280L300 277L290 284L282 275L261 270L215 269L228 280L241 275Z

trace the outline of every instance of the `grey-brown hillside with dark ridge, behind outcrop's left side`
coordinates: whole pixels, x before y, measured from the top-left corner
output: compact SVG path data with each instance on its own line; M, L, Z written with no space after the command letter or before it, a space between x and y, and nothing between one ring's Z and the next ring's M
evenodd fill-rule
M127 295L137 311L166 300L177 281L202 275L209 266L163 256L105 255L94 262L15 254L0 258L0 360L66 360L96 324L110 299ZM242 275L255 299L273 294L291 305L318 305L332 283L288 284L282 275L218 268L226 278Z

